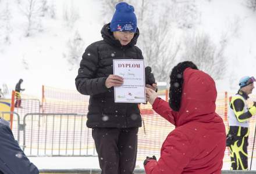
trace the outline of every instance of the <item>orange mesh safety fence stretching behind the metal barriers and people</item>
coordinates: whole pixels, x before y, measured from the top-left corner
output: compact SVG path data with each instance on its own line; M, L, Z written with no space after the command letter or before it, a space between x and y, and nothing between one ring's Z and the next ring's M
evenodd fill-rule
M168 99L168 91L160 91L159 95L162 95L162 99ZM226 126L226 132L228 129L227 122L227 108L229 107L229 94L227 92L218 92L218 97L216 100L216 113L218 113ZM24 115L27 113L75 113L75 114L87 114L88 107L88 96L83 96L77 91L73 90L63 90L51 88L48 86L42 87L42 101L39 102L38 99L29 98L28 96L22 96L22 108L15 108L14 111L19 113L19 115ZM251 95L248 100L249 106L253 104L256 100L256 96ZM138 132L138 160L142 160L146 155L157 155L161 150L161 146L166 136L170 131L174 129L168 121L160 117L157 113L152 110L150 104L140 105L141 115L143 117L143 127L139 129ZM83 119L85 122L86 120ZM62 122L65 124L65 122ZM248 157L250 160L252 148L253 148L253 138L256 125L256 118L250 119L250 135L249 135L249 146L248 146ZM82 126L85 126L84 124ZM84 131L88 129L84 128ZM35 131L36 132L36 131ZM87 142L87 147L94 147L93 138L91 137L91 132L83 134L83 139L89 139ZM72 142L76 143L76 142ZM33 148L33 147L31 147ZM84 147L86 148L86 147ZM254 153L254 158L256 157ZM92 154L93 155L93 154ZM229 161L229 150L225 151L224 161Z

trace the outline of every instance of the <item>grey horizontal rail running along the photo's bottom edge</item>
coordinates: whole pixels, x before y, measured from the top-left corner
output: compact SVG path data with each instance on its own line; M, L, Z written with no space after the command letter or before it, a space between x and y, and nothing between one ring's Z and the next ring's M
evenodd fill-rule
M42 169L40 170L40 174L48 174L48 173L69 173L69 174L100 174L100 169ZM221 173L226 174L256 174L256 171L222 171ZM144 169L135 169L134 174L145 174Z

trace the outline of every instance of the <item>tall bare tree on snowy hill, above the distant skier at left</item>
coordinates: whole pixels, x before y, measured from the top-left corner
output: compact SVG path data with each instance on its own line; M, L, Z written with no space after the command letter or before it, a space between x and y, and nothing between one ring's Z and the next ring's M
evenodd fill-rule
M19 8L22 14L27 18L26 37L29 37L33 31L41 31L42 16L42 1L41 0L23 0Z

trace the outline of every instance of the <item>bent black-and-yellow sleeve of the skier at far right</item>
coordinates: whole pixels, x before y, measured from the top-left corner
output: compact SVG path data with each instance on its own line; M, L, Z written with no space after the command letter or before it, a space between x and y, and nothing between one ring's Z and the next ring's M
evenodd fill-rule
M234 100L233 110L239 122L247 121L248 118L253 116L251 115L250 111L244 112L244 102L241 99Z

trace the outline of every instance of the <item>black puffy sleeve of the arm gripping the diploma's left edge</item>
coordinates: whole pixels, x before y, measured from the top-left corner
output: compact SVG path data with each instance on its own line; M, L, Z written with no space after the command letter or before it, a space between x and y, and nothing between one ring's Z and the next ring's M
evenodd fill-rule
M97 45L91 44L83 53L80 62L78 75L75 79L76 89L83 95L95 95L108 90L105 86L107 77L95 78L98 69L98 49Z

